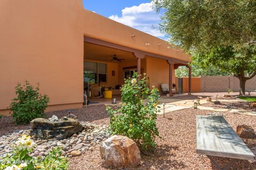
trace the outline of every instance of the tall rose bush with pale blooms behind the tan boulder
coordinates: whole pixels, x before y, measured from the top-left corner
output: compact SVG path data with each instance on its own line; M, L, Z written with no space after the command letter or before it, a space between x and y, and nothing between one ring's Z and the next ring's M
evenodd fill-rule
M146 74L139 80L138 73L125 80L121 91L121 107L106 108L110 116L110 132L125 135L134 140L140 150L151 152L156 147L155 138L158 136L156 102L159 91L155 87L150 90Z

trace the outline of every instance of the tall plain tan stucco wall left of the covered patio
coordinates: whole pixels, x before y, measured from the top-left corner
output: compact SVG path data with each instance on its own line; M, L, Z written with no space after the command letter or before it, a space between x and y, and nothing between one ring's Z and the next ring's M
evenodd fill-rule
M82 107L81 7L82 1L0 1L0 110L26 79L41 84L50 105Z

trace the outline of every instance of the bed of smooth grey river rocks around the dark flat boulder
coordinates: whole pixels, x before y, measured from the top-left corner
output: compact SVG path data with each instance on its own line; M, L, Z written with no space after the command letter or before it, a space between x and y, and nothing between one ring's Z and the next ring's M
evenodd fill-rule
M46 156L52 147L61 147L62 155L68 157L84 154L86 150L93 150L95 145L105 141L110 137L107 132L106 125L97 125L90 122L80 122L84 127L82 132L73 134L72 137L55 140L55 139L36 139L32 136L31 139L37 144L37 147L31 152L31 156ZM12 145L17 141L22 134L29 135L29 130L20 130L10 135L0 137L0 160L13 150Z

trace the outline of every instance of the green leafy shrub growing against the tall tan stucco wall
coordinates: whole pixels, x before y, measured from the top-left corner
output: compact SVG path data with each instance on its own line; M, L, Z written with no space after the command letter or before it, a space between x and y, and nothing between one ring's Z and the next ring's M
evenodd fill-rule
M12 99L9 108L16 124L27 124L34 118L43 117L49 97L39 94L39 84L34 88L26 80L24 86L15 87L17 98Z

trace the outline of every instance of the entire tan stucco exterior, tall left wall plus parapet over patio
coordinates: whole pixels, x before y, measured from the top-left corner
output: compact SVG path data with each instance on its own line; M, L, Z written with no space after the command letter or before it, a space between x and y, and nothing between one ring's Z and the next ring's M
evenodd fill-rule
M161 39L84 10L82 0L2 0L0 25L1 113L25 79L50 96L48 111L82 107L84 36L190 61Z

